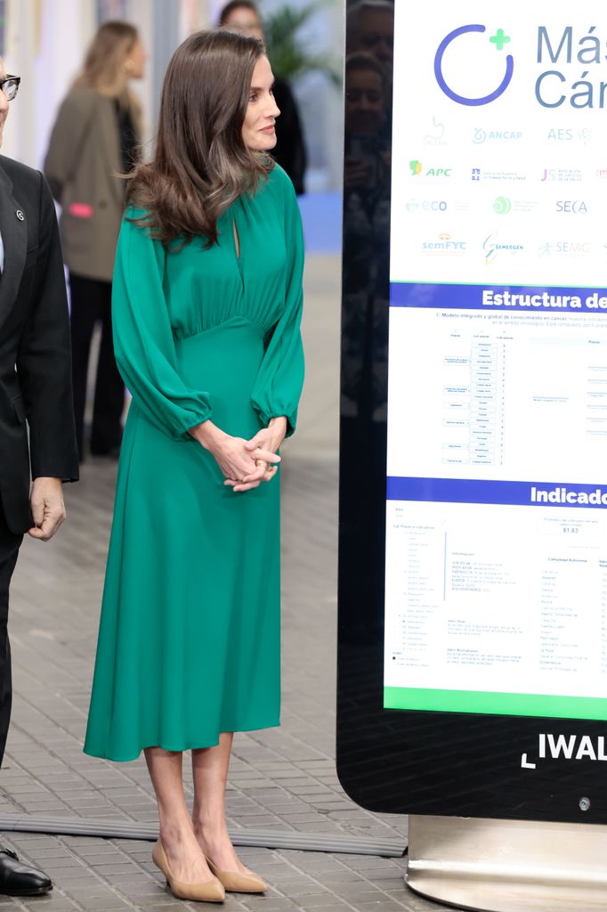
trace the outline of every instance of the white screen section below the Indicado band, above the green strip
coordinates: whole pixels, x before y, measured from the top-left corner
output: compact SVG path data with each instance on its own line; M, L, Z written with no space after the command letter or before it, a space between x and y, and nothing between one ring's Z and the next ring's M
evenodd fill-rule
M387 515L388 687L604 695L600 513L389 502Z

